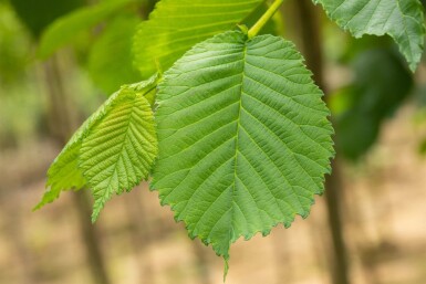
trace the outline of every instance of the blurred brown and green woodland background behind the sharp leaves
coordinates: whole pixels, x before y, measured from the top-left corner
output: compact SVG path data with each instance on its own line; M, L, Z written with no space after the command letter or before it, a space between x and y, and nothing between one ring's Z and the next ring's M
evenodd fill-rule
M132 38L154 6L0 0L0 283L222 283L221 259L146 183L113 198L94 225L84 190L32 212L70 135L141 81ZM63 19L72 29L40 52ZM426 62L412 74L391 39L354 40L310 0L288 0L271 24L326 93L337 158L306 220L231 248L227 283L425 284Z

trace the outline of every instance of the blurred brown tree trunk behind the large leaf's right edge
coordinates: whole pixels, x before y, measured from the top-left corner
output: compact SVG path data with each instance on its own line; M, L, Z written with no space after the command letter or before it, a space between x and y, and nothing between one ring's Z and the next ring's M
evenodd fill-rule
M308 67L313 72L313 78L326 94L328 90L323 78L323 52L321 45L321 21L318 10L310 0L293 0L289 3L293 9L292 28L299 35L300 49L304 55ZM285 14L285 18L288 14ZM328 102L328 95L325 95ZM337 155L339 157L339 155ZM343 227L340 203L343 200L341 192L343 183L337 159L332 161L332 175L325 179L325 202L329 218L332 243L332 277L334 284L349 284L347 255L344 244Z

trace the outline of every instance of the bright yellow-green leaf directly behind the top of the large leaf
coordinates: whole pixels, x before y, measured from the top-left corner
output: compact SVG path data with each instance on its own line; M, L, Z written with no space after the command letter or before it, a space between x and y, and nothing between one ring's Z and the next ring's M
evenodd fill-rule
M143 77L168 70L194 44L245 23L263 0L162 0L134 40ZM262 6L263 7L263 6ZM261 8L264 9L264 8Z

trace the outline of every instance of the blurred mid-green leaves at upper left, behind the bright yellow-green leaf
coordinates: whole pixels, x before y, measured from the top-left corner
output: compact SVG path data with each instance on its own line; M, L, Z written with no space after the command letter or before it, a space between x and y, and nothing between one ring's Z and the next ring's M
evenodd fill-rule
M44 59L63 45L77 42L82 65L94 84L111 95L121 85L142 80L133 64L132 40L142 21L139 8L150 2L107 0L74 10L46 28L38 55ZM83 33L90 36L77 41Z

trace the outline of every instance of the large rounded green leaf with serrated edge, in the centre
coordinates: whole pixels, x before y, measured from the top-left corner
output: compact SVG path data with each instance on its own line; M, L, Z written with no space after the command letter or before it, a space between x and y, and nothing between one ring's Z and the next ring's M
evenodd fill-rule
M290 227L323 192L333 129L311 75L292 43L231 31L193 48L158 86L152 188L226 261L238 238Z

